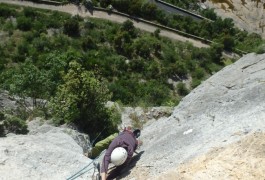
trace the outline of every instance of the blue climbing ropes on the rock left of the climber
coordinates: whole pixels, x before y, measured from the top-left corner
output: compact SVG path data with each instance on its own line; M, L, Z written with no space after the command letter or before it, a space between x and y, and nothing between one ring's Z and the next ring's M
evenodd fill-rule
M67 178L66 180L74 180L74 179L78 178L79 176L85 174L86 172L90 171L90 170L93 169L93 168L94 168L94 172L93 172L92 177L94 176L95 171L96 171L96 169L97 169L98 174L96 175L96 180L99 180L99 179L100 179L100 167L99 167L99 163L97 162L97 160L98 160L98 158L99 158L103 153L105 153L105 151L106 151L106 150L102 151L102 152L100 153L100 155L99 155L97 158L95 158L95 159L94 159L93 161L91 161L88 165L86 165L85 167L83 167L82 169L80 169L78 172L76 172L75 174L73 174L72 176L70 176L69 178ZM91 164L93 164L93 167L90 167L90 168L89 168L89 166L90 166ZM89 169L87 169L87 168L89 168Z

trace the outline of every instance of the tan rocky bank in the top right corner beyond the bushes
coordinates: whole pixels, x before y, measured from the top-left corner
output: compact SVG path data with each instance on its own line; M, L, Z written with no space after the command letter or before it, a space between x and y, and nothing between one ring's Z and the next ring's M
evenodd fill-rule
M204 4L214 8L218 16L232 18L235 25L247 32L254 32L265 37L265 1L264 0L226 0L206 1Z

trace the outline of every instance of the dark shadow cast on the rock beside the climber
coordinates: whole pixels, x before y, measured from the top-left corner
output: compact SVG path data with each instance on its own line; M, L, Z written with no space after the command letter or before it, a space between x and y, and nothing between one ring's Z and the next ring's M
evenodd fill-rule
M135 156L132 157L131 162L128 165L121 165L109 172L107 180L119 180L125 178L131 173L131 170L136 166L137 162L140 160L144 151L139 152Z

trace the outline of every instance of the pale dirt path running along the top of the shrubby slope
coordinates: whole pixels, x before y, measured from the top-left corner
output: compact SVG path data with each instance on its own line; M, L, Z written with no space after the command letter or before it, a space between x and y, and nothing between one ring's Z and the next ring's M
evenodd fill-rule
M22 5L22 6L30 6L30 7L35 7L35 8L40 8L40 9L50 9L50 10L57 10L61 12L66 12L70 13L72 15L79 14L82 17L92 17L92 18L100 18L100 19L106 19L109 21L117 22L117 23L123 23L124 21L128 20L129 18L119 16L116 14L108 14L102 11L93 11L88 12L85 10L84 7L78 8L75 5L64 5L64 6L53 6L53 5L46 5L46 4L36 4L33 2L29 1L21 1L21 0L0 0L0 3L8 3L8 4L16 4L16 5ZM134 26L136 28L139 28L141 30L147 31L147 32L154 32L157 27L143 23L143 22L136 22L132 20L134 23ZM160 32L161 36L168 37L170 39L174 39L177 41L182 41L182 42L190 42L192 43L195 47L209 47L209 45L202 43L201 41L197 41L191 38L183 37L180 36L176 33L173 33L171 31L167 30L161 30Z

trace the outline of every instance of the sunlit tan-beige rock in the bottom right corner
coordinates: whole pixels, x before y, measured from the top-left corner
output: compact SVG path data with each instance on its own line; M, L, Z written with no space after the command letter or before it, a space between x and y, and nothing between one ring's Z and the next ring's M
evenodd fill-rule
M157 180L265 179L264 149L265 133L254 133L227 147L215 148L208 154L163 174Z

